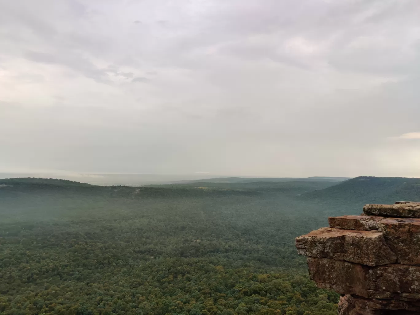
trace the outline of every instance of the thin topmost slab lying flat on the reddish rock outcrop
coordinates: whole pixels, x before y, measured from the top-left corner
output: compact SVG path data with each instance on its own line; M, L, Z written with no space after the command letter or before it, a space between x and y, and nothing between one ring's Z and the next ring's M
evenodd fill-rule
M395 218L420 218L420 202L400 201L395 205L369 204L363 207L367 215L380 215Z

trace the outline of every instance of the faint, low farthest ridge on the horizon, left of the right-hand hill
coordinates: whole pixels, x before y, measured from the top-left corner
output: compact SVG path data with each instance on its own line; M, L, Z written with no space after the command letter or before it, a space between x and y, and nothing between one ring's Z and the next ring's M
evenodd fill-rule
M350 179L350 177L328 177L328 176L312 176L307 178L296 177L216 177L198 179L192 181L177 181L176 184L190 184L198 182L206 183L253 183L258 181L272 181L272 182L285 182L285 181L332 181L339 182Z

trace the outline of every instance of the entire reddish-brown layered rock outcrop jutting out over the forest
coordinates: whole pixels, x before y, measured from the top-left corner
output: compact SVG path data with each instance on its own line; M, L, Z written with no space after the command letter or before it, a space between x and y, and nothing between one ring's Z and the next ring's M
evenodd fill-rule
M296 238L310 278L342 295L339 315L419 315L420 202L363 212Z

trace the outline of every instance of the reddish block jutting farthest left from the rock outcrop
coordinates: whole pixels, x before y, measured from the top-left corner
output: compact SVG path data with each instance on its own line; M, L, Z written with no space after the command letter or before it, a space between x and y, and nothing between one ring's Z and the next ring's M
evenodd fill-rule
M300 255L369 266L396 262L396 255L386 244L383 233L378 231L320 228L297 237L296 247Z

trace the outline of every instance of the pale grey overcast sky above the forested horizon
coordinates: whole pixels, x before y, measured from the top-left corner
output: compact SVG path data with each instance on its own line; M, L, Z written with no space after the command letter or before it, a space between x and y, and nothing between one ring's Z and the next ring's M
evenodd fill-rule
M0 0L0 172L420 177L418 0Z

